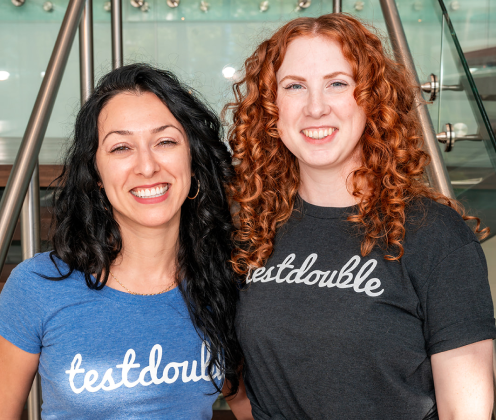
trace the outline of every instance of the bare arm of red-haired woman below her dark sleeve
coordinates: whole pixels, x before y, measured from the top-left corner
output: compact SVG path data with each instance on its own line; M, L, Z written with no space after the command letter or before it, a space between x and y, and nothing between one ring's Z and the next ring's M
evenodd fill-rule
M440 420L491 418L492 340L433 354L431 363Z

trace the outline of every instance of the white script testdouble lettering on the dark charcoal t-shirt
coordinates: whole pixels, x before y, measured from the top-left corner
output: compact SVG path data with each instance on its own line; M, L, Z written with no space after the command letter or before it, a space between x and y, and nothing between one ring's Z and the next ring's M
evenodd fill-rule
M296 258L295 254L289 254L286 259L281 263L277 264L276 267L279 269L276 275L273 275L273 271L276 267L260 267L249 273L246 279L247 283L250 282L261 282L266 283L269 281L275 281L276 283L304 283L308 286L313 286L314 284L319 284L319 287L337 287L340 289L353 288L356 293L365 292L366 295L371 297L376 297L384 292L384 289L377 290L381 287L381 281L377 278L368 279L372 271L374 271L377 266L377 260L368 260L358 273L353 275L353 270L360 265L361 258L355 255L350 258L350 260L341 268L334 271L320 271L314 270L310 271L310 268L317 261L317 254L310 254L300 268L294 268L291 263ZM282 272L287 269L291 270L285 277L282 276ZM308 275L306 275L308 273ZM303 277L306 275L306 277ZM337 277L336 277L337 276ZM363 285L363 287L362 287Z

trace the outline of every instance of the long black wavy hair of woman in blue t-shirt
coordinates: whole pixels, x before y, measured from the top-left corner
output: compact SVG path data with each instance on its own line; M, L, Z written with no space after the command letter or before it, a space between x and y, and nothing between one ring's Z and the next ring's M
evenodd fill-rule
M102 289L110 266L122 250L118 223L112 206L99 188L96 167L98 116L110 99L123 92L151 92L169 108L184 128L191 151L191 170L201 190L181 207L177 281L191 320L207 340L214 367L238 389L241 350L234 331L238 279L231 269L232 219L224 186L233 176L231 156L222 141L222 125L215 113L194 90L183 86L174 74L146 64L131 64L103 76L76 118L73 142L63 172L56 180L52 219L54 257L69 266L69 272L84 273L90 289ZM197 190L192 180L190 195ZM58 269L58 267L57 267ZM96 281L92 274L96 273ZM224 363L222 363L224 362Z

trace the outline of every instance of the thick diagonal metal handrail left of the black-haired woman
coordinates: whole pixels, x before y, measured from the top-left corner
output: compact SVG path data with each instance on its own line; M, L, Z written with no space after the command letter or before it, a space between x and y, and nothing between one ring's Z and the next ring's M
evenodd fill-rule
M0 267L3 267L21 212L29 180L40 153L62 75L83 10L84 0L70 0L50 57L40 92L22 139L12 172L0 204Z

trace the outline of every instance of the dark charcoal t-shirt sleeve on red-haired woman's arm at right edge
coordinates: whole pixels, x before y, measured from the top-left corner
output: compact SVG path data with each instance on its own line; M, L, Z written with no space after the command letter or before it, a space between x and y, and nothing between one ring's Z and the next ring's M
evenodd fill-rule
M422 288L429 355L496 338L484 253L478 242L450 252Z

